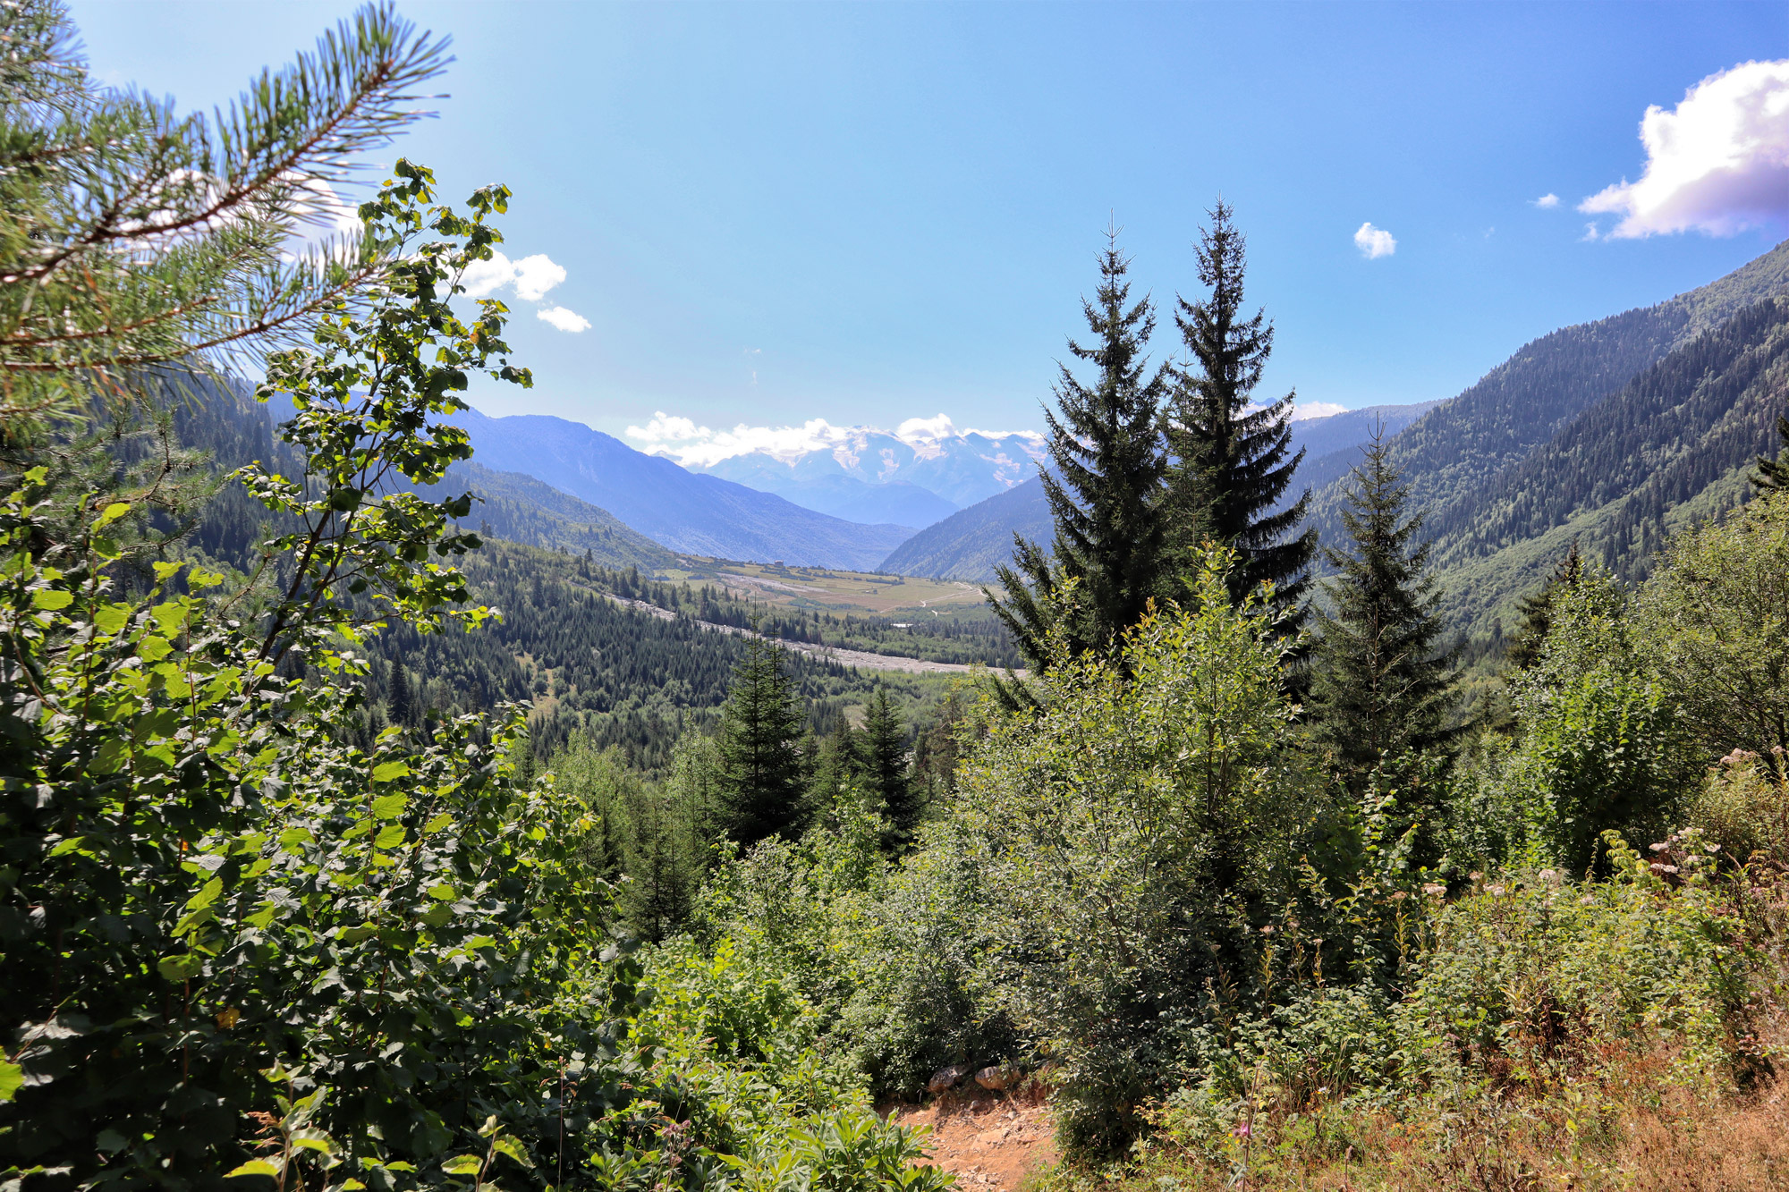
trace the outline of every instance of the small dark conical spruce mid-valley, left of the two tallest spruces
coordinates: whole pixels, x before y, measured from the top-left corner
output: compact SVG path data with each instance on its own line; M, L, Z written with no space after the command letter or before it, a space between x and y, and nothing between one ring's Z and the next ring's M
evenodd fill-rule
M716 743L719 827L748 848L769 836L798 836L807 825L801 730L801 707L784 671L782 646L748 637Z

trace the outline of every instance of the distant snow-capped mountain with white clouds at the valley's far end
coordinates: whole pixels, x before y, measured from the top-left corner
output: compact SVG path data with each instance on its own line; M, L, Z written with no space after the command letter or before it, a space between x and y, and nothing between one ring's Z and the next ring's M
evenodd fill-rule
M894 430L735 426L714 431L658 413L628 438L694 473L775 492L805 508L861 523L928 526L1038 474L1043 435L957 430L946 415Z

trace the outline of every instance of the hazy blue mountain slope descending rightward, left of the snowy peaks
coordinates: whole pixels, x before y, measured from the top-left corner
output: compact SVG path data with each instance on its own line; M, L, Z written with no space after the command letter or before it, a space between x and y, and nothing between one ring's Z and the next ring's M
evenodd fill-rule
M606 508L646 537L689 555L871 569L912 532L816 514L769 492L701 476L612 435L546 415L454 419L485 467L524 473Z

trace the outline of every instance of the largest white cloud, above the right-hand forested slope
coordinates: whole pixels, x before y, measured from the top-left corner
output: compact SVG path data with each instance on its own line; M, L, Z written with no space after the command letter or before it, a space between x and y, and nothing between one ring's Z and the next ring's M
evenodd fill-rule
M1583 202L1619 215L1608 240L1701 231L1732 236L1789 220L1789 59L1708 75L1666 111L1641 118L1646 172Z

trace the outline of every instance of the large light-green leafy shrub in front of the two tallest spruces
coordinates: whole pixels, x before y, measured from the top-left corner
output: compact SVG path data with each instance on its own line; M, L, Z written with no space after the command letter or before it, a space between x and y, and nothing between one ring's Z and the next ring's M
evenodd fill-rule
M1259 970L1261 936L1299 895L1313 782L1288 745L1274 616L1229 601L1227 551L1190 610L1038 684L1036 718L995 723L954 809L988 895L982 934L1011 1015L1057 1065L1057 1129L1111 1153L1184 1074L1218 983Z

